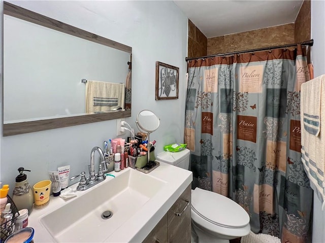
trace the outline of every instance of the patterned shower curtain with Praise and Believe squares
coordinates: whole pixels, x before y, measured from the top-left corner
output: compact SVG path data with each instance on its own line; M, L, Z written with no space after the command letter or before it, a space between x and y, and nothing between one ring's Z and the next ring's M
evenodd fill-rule
M188 62L192 188L230 197L254 233L282 242L311 240L313 192L300 150L305 52L298 46Z

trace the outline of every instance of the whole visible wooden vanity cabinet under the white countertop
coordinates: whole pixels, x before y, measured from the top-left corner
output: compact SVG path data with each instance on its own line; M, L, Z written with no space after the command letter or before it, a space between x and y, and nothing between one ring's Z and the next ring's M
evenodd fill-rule
M187 207L186 207L187 205ZM184 208L186 209L184 210ZM184 211L183 211L184 210ZM182 212L183 211L183 212ZM177 216L176 214L180 214ZM191 186L189 185L164 217L151 230L143 243L191 241Z

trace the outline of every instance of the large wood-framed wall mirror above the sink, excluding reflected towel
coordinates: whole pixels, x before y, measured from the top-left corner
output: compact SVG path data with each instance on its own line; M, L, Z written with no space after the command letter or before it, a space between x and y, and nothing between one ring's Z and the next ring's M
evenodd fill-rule
M131 82L125 109L92 114L82 83L131 80L131 47L7 2L3 18L3 136L131 116Z

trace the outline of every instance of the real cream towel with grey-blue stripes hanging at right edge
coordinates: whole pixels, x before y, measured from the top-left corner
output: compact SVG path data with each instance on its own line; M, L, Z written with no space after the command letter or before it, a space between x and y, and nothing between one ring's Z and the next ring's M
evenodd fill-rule
M322 203L322 209L324 209L325 75L316 77L301 85L300 101L302 162L309 177L310 186L316 192ZM318 110L319 112L317 112ZM307 114L307 116L304 114ZM318 118L316 118L317 115ZM306 119L309 120L306 121ZM317 120L318 126L316 126L316 123L311 122ZM318 132L314 130L318 130Z

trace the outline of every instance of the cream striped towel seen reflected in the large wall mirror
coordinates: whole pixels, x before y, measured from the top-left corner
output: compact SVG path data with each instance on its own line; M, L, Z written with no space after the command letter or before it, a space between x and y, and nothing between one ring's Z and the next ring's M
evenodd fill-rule
M103 113L124 109L125 85L101 81L86 83L86 113Z

